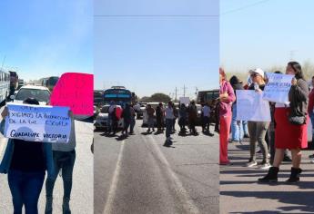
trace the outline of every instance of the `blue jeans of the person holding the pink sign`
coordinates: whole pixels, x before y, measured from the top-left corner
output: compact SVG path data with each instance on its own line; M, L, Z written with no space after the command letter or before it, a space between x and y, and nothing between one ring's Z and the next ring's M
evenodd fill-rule
M53 151L54 174L46 180L46 198L52 199L56 177L62 170L62 180L64 185L64 200L69 200L72 190L72 175L74 163L76 161L76 151Z

